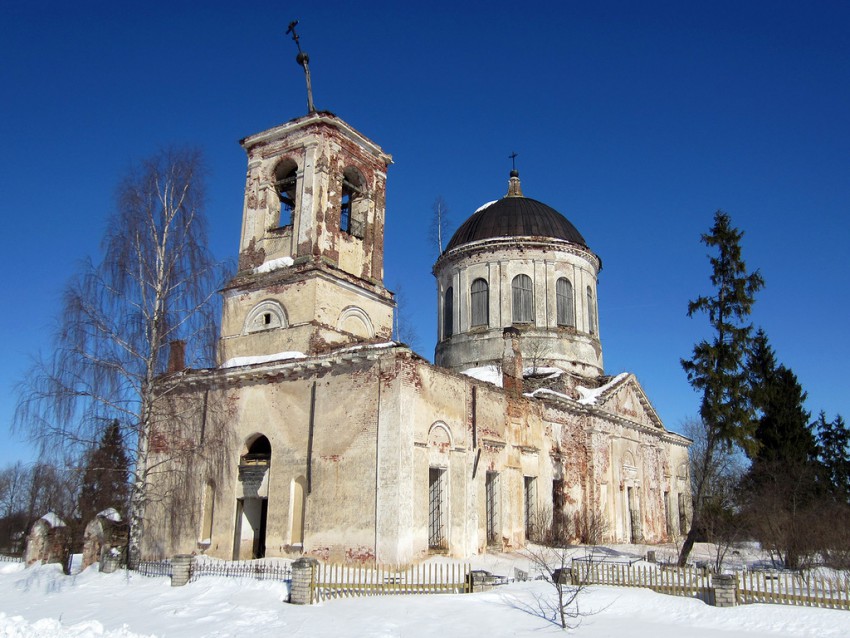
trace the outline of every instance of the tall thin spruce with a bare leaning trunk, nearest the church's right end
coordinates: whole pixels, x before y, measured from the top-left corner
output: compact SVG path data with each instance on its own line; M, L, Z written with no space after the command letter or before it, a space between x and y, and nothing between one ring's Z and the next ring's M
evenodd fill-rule
M691 386L702 393L700 417L706 428L706 450L697 463L703 478L695 485L691 528L679 564L684 565L700 530L700 503L706 481L712 477L712 459L718 448L753 447L754 421L750 402L746 355L752 347L750 315L755 294L764 286L758 271L747 273L741 257L743 233L732 226L728 214L717 211L714 224L702 242L717 254L709 257L713 293L688 304L688 316L705 313L712 329L710 339L694 346L690 359L682 360Z

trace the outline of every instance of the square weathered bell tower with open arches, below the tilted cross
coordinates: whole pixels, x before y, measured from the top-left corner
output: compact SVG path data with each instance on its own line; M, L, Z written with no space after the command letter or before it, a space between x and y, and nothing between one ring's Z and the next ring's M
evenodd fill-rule
M321 111L241 144L248 174L238 272L224 290L221 362L390 339L390 155Z

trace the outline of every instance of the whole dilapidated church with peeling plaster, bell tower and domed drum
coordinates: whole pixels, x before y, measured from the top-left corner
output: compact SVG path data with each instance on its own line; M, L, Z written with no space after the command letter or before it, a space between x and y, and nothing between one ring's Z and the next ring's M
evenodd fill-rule
M321 111L241 143L218 365L172 371L173 403L200 406L180 436L214 453L171 467L176 443L152 438L172 471L152 475L143 557L409 563L553 526L583 542L687 531L689 441L634 375L605 374L601 260L516 171L433 267L431 364L392 341L390 155Z

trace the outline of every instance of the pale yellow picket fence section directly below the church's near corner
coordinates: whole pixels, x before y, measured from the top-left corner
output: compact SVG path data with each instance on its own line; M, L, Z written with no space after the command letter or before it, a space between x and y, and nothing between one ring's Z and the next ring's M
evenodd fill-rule
M463 594L472 591L465 563L411 566L319 564L313 571L313 600L390 594Z

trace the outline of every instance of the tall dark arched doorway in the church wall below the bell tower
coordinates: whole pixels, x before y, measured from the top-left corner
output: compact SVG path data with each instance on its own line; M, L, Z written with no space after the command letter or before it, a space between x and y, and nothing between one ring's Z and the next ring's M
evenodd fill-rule
M236 499L236 526L233 559L262 558L266 555L266 521L269 510L268 475L272 446L262 434L248 440L239 459L241 493Z

